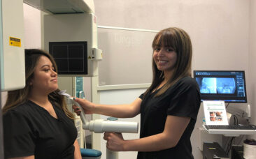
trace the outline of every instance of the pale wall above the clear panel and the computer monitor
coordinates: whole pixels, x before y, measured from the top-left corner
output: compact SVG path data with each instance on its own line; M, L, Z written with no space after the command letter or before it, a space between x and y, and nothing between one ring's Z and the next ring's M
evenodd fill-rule
M249 0L94 0L94 3L101 26L185 29L192 38L193 69L248 70Z

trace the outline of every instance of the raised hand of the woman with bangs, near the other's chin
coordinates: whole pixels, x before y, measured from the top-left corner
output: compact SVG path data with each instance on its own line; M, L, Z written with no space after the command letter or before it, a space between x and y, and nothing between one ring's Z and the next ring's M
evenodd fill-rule
M85 112L85 114L93 114L92 109L94 108L94 103L91 103L90 101L81 98L75 98L74 100L79 103L81 107L83 107L83 111ZM76 114L80 114L80 107L78 107L77 105L72 105L72 108L74 112L76 112Z

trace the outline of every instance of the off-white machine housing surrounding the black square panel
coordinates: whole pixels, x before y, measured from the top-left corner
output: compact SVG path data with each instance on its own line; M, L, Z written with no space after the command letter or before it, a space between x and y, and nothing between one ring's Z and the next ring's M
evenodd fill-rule
M93 13L44 15L43 50L49 52L49 42L87 42L87 75L98 75L98 63L102 59L97 49L97 17ZM74 75L61 75L74 76Z

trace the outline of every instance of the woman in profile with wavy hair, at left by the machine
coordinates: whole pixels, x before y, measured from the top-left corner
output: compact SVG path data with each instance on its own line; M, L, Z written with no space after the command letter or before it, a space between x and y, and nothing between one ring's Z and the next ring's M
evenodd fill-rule
M74 117L59 95L50 54L25 50L26 85L8 91L3 107L5 158L80 159Z

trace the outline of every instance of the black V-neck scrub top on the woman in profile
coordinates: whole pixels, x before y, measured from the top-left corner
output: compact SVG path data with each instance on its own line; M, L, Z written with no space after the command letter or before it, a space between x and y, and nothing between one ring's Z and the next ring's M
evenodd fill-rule
M57 119L27 101L3 114L5 158L73 159L76 126L62 109L53 105Z

